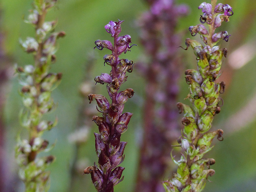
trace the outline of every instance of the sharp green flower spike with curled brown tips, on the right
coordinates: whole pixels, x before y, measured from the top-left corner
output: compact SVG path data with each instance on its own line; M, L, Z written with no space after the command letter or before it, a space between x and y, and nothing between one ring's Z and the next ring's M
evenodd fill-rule
M205 186L208 176L215 171L210 165L215 163L212 158L203 158L209 152L212 140L217 136L223 140L223 131L218 129L208 132L212 126L212 120L220 112L222 99L220 94L224 92L224 82L216 83L220 76L222 57L226 57L226 48L220 49L216 46L220 40L228 41L228 32L214 33L223 21L228 21L233 14L232 8L227 4L202 3L198 7L202 9L200 18L202 24L206 23L208 30L202 24L190 26L192 36L200 34L204 46L196 40L186 39L186 46L191 46L197 60L197 70L186 70L186 82L189 84L190 93L187 98L192 107L178 103L179 112L184 112L182 118L182 138L178 143L184 150L180 160L174 162L178 170L174 178L163 182L168 192L201 192ZM205 167L207 169L205 169Z

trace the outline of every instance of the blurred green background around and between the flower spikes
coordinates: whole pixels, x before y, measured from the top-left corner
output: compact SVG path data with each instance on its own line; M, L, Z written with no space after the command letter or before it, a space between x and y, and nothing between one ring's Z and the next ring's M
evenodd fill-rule
M231 34L228 43L222 42L221 46L228 49L228 57L224 60L222 77L219 81L226 82L226 90L222 95L224 105L220 114L215 116L212 130L222 128L224 141L215 142L216 146L207 155L214 158L216 164L212 168L216 174L209 178L205 192L254 192L256 191L256 3L252 0L223 0L223 4L233 7L234 15L230 22L223 23L220 30L227 30ZM187 28L199 24L201 11L197 9L200 0L176 0L177 4L185 3L190 7L190 14L179 20L177 32L182 38L191 38ZM32 0L2 0L0 31L4 34L4 48L11 58L12 64L19 66L32 64L32 55L25 54L18 43L19 38L33 36L32 26L23 22L23 17L32 9ZM98 76L101 72L109 73L110 67L103 65L102 57L109 53L108 50L93 50L94 41L97 39L111 40L104 26L110 20L125 20L122 24L122 35L129 34L132 51L123 58L139 62L144 58L143 46L140 44L140 29L137 25L138 18L148 10L148 5L143 0L59 0L56 8L47 15L47 20L58 19L56 31L65 31L66 37L58 40L57 62L52 66L52 72L62 72L62 83L53 92L53 98L58 103L58 108L49 115L49 119L58 116L58 125L44 138L50 143L56 141L56 146L50 154L56 156L56 161L50 166L51 187L50 192L93 192L96 191L90 176L76 176L71 181L71 166L74 157L86 159L86 166L97 162L94 146L93 132L98 131L93 125L88 135L86 144L76 150L75 144L68 141L68 136L81 124L81 106L84 98L79 94L79 86L86 76ZM184 44L182 44L184 46ZM238 50L238 51L237 51ZM236 51L236 52L235 52ZM195 68L196 60L192 49L181 51L185 59L184 68ZM91 62L94 56L96 62ZM245 60L246 58L246 60ZM91 62L91 63L90 63ZM86 66L93 65L90 72ZM92 80L93 80L92 78ZM133 88L134 97L128 100L124 112L134 113L128 130L122 135L121 140L127 141L125 160L122 166L124 181L115 187L116 192L132 192L135 184L136 167L138 162L138 149L142 127L142 105L145 82L140 74L134 70L128 74L128 81L122 89ZM180 102L188 94L188 86L184 76L180 80ZM107 95L105 86L96 85L97 93ZM8 84L8 94L4 108L4 122L6 129L6 142L8 163L12 175L17 174L14 159L14 146L16 136L21 133L26 138L26 130L19 125L18 112L22 108L21 97L18 94L20 85L16 76ZM87 100L86 100L87 102ZM95 105L93 102L91 105ZM177 110L178 112L178 110ZM180 116L182 118L182 116ZM45 154L43 154L45 155ZM84 166L84 168L86 168ZM167 178L166 178L167 179ZM22 183L18 179L13 182L16 192L21 191ZM70 187L72 186L72 187ZM21 188L20 188L21 187Z

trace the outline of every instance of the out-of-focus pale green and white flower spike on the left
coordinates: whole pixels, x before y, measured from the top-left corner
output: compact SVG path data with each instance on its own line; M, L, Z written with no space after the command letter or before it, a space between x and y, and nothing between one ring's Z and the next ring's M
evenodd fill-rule
M28 16L27 23L36 29L35 38L28 37L20 40L24 51L34 56L34 65L24 67L16 66L21 88L23 104L25 108L20 112L20 121L29 132L29 139L18 138L16 146L16 159L20 166L19 176L24 182L26 192L45 192L49 188L49 171L46 167L54 161L54 156L38 158L38 153L49 150L49 142L42 138L46 130L52 129L57 119L43 120L44 114L54 109L51 92L58 86L62 78L61 73L50 73L50 65L55 61L55 44L64 32L51 33L56 21L45 22L44 18L50 8L56 4L56 0L35 0L34 10Z

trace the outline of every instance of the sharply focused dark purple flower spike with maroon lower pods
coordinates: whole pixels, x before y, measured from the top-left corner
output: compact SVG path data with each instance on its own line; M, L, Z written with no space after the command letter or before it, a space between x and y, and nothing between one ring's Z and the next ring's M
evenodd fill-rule
M93 121L97 124L99 134L95 135L96 154L98 156L98 166L89 166L84 170L84 174L91 174L92 182L98 192L114 192L114 186L123 180L123 167L118 166L124 160L124 148L127 142L120 142L121 134L127 130L132 113L125 112L124 103L131 98L134 91L128 88L119 91L120 86L126 82L126 72L132 72L133 61L118 58L120 54L130 51L130 35L118 36L121 32L123 21L110 21L105 29L114 38L114 46L108 40L96 40L95 47L99 50L107 48L112 54L103 57L104 65L111 66L110 74L102 73L94 80L96 83L106 84L111 104L106 97L100 94L89 94L90 103L96 100L97 110L102 113L102 117L94 116Z

